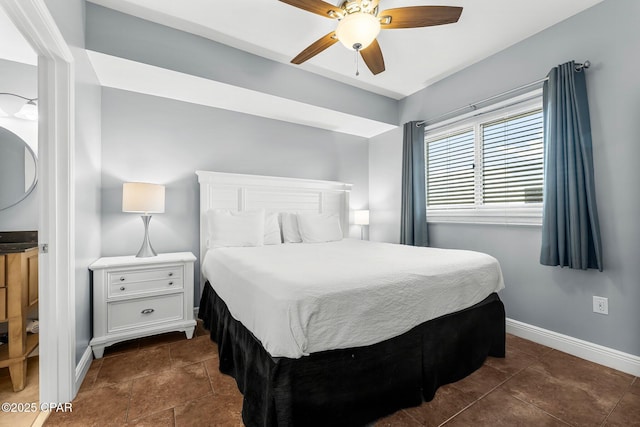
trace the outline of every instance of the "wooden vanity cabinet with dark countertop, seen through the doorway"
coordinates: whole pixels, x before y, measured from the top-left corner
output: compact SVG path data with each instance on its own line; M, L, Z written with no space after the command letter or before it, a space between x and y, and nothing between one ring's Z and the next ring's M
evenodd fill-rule
M0 346L0 367L9 367L14 391L24 389L27 356L38 334L27 334L27 312L38 303L38 248L0 255L0 321L8 323L9 342Z

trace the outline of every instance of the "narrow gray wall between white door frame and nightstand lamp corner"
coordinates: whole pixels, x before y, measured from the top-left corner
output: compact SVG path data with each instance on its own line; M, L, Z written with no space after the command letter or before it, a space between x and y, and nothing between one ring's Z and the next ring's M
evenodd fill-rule
M89 345L88 266L100 257L100 86L84 50L84 0L46 0L75 60L75 316L77 364Z

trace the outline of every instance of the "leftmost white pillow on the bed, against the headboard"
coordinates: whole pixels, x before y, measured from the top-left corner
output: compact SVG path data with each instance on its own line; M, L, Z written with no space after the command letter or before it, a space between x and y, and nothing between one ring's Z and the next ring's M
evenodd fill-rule
M209 249L264 244L264 210L232 212L215 209L207 212L207 220Z

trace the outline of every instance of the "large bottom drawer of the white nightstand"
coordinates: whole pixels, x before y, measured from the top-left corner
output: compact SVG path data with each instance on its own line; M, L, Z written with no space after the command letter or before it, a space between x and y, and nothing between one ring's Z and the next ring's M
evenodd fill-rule
M116 301L107 306L108 332L170 322L184 317L182 293Z

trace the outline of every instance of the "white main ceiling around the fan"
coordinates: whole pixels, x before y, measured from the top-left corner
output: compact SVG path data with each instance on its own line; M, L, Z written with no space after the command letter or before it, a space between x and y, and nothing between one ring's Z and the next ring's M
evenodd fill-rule
M365 68L356 77L354 52L339 43L299 67L401 99L601 1L381 0L381 10L436 4L464 9L455 24L382 31L378 41L386 71L377 76ZM283 63L336 25L276 0L91 2Z

